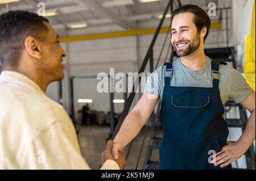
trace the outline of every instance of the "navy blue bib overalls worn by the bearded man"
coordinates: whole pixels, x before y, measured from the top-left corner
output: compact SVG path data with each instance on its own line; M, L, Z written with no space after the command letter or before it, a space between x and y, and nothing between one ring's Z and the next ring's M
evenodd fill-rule
M174 70L167 64L160 112L161 169L221 169L208 162L213 150L217 153L226 145L229 134L218 89L218 66L212 61L212 87L173 87Z

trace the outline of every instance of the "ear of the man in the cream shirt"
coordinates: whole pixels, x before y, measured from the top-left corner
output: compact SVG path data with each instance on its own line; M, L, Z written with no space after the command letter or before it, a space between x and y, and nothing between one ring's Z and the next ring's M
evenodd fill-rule
M42 48L34 37L28 36L24 41L24 46L31 57L42 58Z

